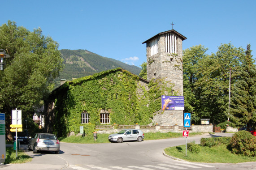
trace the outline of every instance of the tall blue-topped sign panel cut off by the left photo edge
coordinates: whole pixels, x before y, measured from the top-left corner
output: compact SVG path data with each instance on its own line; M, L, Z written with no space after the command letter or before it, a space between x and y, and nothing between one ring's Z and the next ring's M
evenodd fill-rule
M5 149L5 114L0 113L0 163L5 162L6 149Z

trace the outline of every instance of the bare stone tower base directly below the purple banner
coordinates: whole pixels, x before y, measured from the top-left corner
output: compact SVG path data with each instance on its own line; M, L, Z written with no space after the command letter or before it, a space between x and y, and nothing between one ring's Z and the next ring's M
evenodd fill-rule
M184 126L183 110L164 110L153 117L153 123L160 125L179 125Z

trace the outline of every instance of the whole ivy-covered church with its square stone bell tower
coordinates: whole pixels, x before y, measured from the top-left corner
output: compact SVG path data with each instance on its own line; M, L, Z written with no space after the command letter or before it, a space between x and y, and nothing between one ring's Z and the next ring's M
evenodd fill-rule
M162 110L161 96L182 96L182 41L175 30L146 43L147 80L122 68L65 82L45 100L47 132L77 134L79 126L183 125L183 110Z

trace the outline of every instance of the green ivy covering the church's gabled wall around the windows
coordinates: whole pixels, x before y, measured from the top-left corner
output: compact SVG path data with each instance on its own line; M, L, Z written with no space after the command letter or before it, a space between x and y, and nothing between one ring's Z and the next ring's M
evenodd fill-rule
M86 133L94 132L101 124L101 110L109 113L110 124L152 123L154 113L161 110L161 95L171 92L160 81L149 83L116 68L66 82L45 101L47 131L66 136L84 126ZM90 123L81 123L82 112L90 114Z

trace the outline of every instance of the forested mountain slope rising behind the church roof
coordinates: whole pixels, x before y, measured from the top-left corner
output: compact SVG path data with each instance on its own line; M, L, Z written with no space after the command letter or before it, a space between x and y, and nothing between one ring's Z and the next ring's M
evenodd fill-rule
M65 64L64 70L60 76L56 78L57 84L60 84L60 79L67 81L74 78L89 76L97 72L121 67L133 74L139 75L140 68L125 64L121 61L103 57L87 50L60 50L63 63Z

